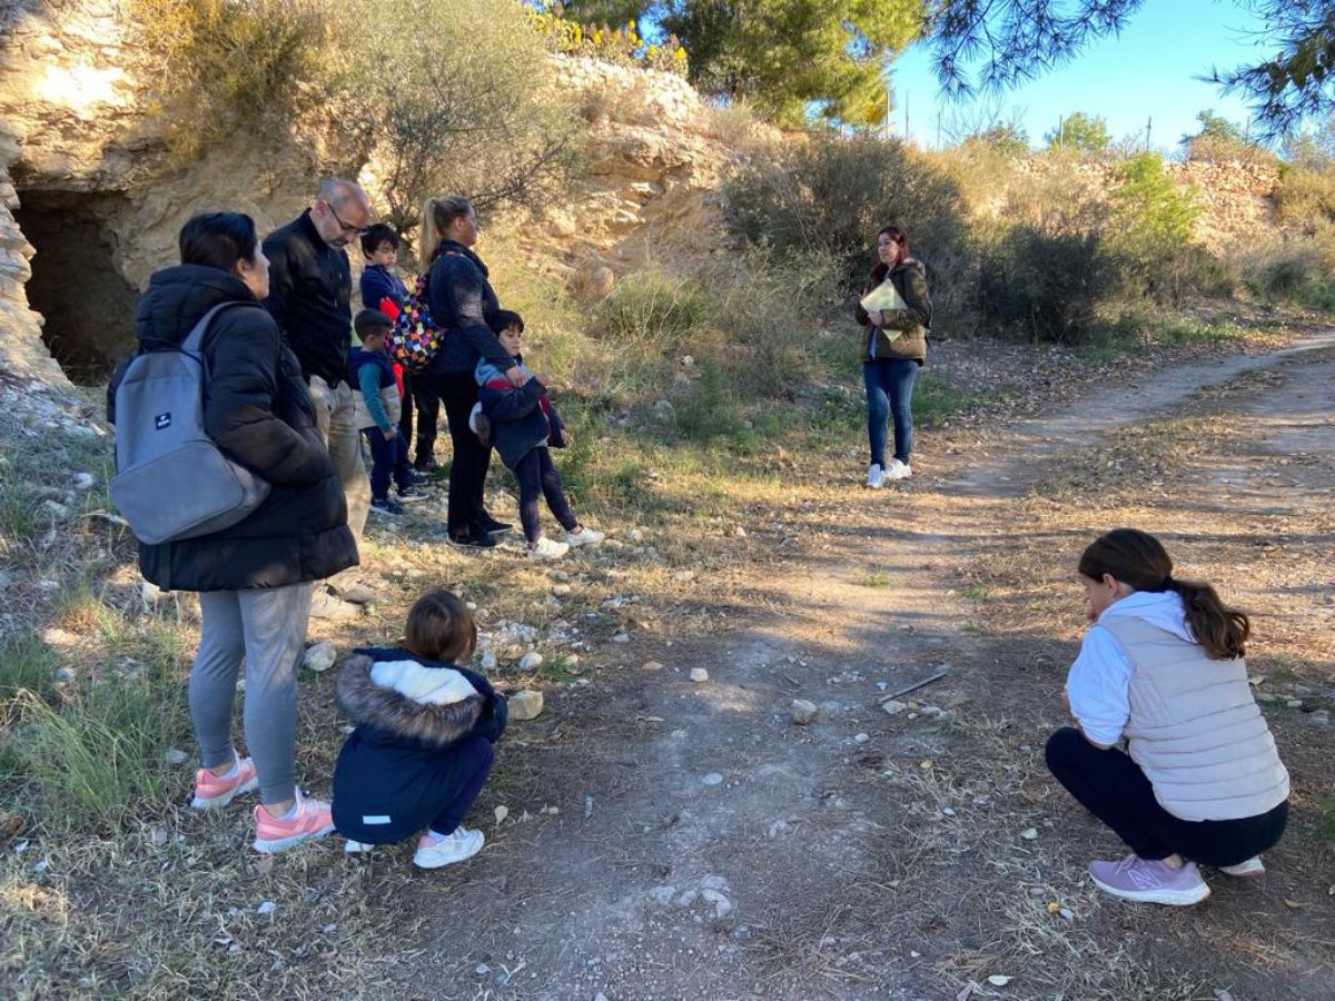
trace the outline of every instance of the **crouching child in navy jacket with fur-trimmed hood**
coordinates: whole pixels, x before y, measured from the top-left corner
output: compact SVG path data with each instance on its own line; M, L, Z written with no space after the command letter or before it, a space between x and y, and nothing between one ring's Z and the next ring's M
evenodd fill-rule
M402 649L358 650L338 679L356 729L334 767L334 826L348 852L370 852L426 829L413 862L438 869L482 849L461 826L505 733L506 699L459 661L478 627L449 591L421 597Z

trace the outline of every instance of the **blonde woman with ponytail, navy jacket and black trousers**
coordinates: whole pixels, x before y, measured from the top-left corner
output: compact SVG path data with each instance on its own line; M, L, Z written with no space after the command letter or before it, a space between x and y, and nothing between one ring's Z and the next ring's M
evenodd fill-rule
M450 542L487 549L495 546L494 535L511 526L487 514L483 505L482 487L491 463L491 446L482 444L469 428L469 414L478 402L473 371L478 359L485 358L515 386L523 386L529 376L491 330L501 304L487 280L487 266L473 252L477 242L478 214L466 198L449 195L426 200L421 266L429 272L427 307L446 335L423 380L445 404L454 446L447 527Z

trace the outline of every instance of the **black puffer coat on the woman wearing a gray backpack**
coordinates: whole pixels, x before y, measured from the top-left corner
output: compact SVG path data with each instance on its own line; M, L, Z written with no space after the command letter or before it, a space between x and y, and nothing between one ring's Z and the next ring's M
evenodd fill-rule
M202 264L159 271L135 315L139 347L152 351L180 344L210 308L224 302L243 304L219 314L204 336L203 352L212 372L204 430L272 490L248 518L230 529L140 545L139 569L164 590L239 591L319 581L356 566L343 487L315 430L300 366L246 284ZM112 422L119 376L108 388ZM171 487L163 484L164 490Z

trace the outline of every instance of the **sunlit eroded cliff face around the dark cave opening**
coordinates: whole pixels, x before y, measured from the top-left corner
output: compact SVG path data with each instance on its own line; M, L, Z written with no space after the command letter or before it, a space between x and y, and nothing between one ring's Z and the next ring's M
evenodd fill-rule
M123 4L20 13L0 36L0 368L95 380L132 343L139 291L192 214L270 228L334 157L323 136L252 136L174 168L154 65ZM44 318L45 323L35 324Z

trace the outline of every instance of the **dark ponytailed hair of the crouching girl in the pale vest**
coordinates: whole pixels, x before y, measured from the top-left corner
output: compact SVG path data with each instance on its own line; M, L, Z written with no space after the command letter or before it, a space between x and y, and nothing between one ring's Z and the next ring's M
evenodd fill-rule
M1089 543L1079 570L1091 581L1111 574L1137 591L1176 591L1187 611L1187 625L1211 659L1243 655L1251 635L1247 615L1224 605L1210 585L1175 579L1172 559L1153 535L1139 529L1113 529Z

